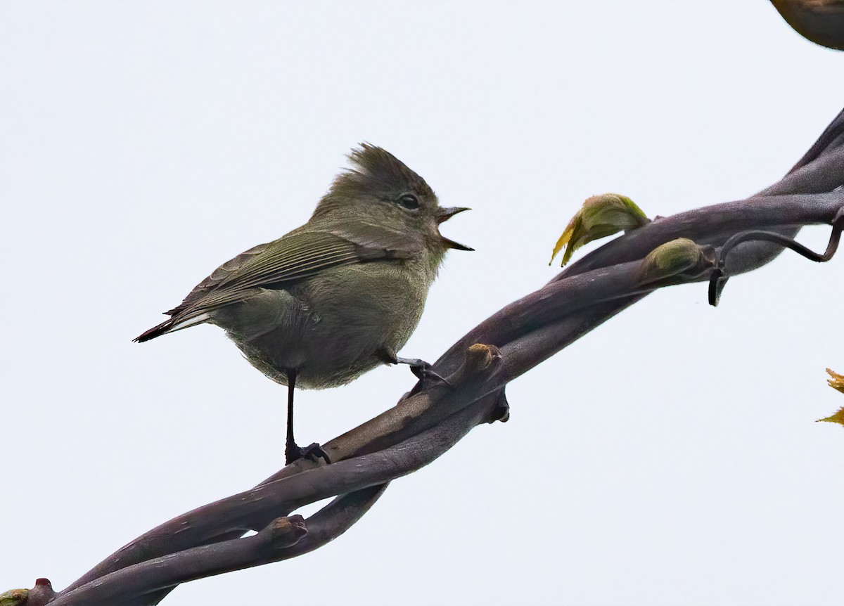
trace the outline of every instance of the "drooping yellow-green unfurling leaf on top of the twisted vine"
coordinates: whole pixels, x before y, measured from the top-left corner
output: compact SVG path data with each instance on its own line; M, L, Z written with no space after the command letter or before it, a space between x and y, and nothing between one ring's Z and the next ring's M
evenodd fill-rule
M636 206L629 197L619 196L617 193L589 197L571 218L563 235L560 235L560 240L555 244L548 264L554 262L554 258L563 246L565 246L565 252L561 265L569 262L571 253L587 242L605 238L622 230L635 230L650 221L651 219L648 219L641 212L641 208Z

